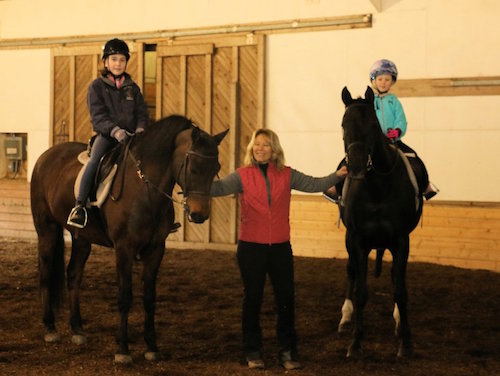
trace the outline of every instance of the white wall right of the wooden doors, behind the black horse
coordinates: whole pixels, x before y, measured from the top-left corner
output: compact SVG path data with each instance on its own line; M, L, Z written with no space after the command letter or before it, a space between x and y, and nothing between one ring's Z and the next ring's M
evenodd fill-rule
M389 6L390 5L390 6ZM267 124L287 162L322 175L343 156L343 86L364 94L377 59L397 63L400 78L499 76L500 39L491 1L382 1L370 29L269 36ZM296 90L290 90L290 83ZM498 96L401 98L405 142L441 189L436 199L500 201Z

